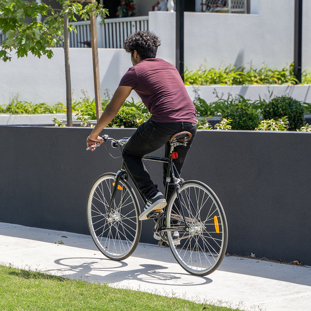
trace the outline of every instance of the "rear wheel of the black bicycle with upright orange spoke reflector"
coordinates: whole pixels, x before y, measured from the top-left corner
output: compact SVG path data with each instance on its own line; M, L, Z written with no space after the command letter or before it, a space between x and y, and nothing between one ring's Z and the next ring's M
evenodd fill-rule
M199 181L183 183L179 196L186 222L174 192L167 207L166 226L179 229L168 234L169 246L183 269L205 276L214 272L225 256L228 241L225 213L216 194Z

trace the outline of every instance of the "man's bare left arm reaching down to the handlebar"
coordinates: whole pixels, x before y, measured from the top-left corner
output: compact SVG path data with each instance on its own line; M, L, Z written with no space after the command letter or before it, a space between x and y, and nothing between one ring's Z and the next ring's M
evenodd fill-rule
M86 145L92 146L95 143L99 142L99 146L103 143L103 138L99 136L100 132L103 128L105 128L117 115L119 109L123 105L124 101L128 98L132 91L131 86L118 86L117 90L115 91L112 100L106 106L103 114L100 116L100 119L96 123L93 131L91 132L90 136L86 139ZM95 148L91 149L92 151Z

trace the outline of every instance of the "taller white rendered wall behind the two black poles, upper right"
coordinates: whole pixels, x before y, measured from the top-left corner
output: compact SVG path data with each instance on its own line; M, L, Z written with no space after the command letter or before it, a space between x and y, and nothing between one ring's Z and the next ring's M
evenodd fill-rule
M185 13L185 66L288 66L294 59L294 0L261 0L259 14ZM303 67L311 67L311 3L304 1ZM175 13L149 12L149 28L162 39L159 57L175 62ZM166 48L168 46L169 48Z

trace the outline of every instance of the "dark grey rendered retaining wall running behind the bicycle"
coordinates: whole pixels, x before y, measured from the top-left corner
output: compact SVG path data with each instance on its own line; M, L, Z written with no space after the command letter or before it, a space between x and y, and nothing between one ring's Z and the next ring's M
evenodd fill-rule
M121 164L104 146L85 150L90 131L0 126L0 222L88 234L89 189ZM132 132L103 134L119 139ZM182 176L207 183L222 202L228 253L311 265L310 148L310 133L197 133ZM159 164L150 162L148 169L160 176ZM160 178L153 179L162 187ZM156 243L152 227L152 220L143 222L141 242Z

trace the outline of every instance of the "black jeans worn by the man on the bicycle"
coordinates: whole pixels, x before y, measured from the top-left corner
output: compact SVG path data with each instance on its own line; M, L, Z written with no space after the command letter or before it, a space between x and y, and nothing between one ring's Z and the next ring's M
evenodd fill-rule
M178 158L173 161L180 174L183 162L197 132L197 124L191 122L160 123L149 119L137 128L136 132L124 146L122 156L126 167L136 181L139 190L147 200L155 196L156 193L158 193L158 189L157 185L152 182L143 164L142 156L156 151L165 145L165 157L168 157L170 150L169 139L175 133L183 131L190 132L192 137L187 146L176 146L174 148L174 151L178 153ZM165 182L167 164L163 166L163 180Z

